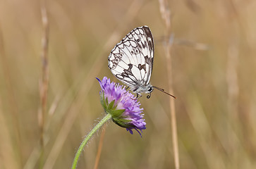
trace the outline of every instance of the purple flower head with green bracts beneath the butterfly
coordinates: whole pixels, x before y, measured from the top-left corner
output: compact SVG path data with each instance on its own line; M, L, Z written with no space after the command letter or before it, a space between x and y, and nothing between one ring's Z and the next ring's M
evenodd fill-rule
M135 99L135 96L127 92L122 85L110 82L107 77L103 77L102 80L97 78L97 80L102 87L99 92L102 106L106 113L111 114L114 123L126 127L130 134L133 134L133 129L139 133L145 130L145 119L142 119L143 108L140 108L140 102Z

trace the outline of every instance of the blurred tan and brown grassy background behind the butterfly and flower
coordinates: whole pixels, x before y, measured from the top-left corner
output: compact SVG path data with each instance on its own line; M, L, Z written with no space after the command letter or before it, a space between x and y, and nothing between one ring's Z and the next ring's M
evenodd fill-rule
M71 168L104 116L95 77L118 82L109 53L142 25L154 36L151 83L168 90L171 66L181 168L255 168L256 2L168 3L171 65L159 1L47 1L43 49L42 2L1 0L0 168ZM142 96L142 138L108 123L85 146L78 168L94 168L102 131L99 168L174 168L169 99L157 90Z

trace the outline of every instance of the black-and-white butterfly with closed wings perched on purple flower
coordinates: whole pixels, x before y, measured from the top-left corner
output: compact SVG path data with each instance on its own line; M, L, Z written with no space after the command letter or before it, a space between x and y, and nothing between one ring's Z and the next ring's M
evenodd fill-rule
M142 93L149 94L149 99L154 89L164 92L164 89L150 84L154 62L154 39L149 27L136 27L130 31L111 50L108 61L111 73L128 85L130 90L137 94L137 99Z

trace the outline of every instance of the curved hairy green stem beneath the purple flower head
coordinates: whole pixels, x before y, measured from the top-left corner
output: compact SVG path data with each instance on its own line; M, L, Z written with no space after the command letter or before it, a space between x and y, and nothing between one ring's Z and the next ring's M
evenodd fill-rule
M90 131L89 134L87 134L87 136L85 137L85 139L83 140L82 144L79 146L78 151L75 154L75 158L73 161L73 165L72 165L72 169L76 168L76 165L78 164L78 159L79 156L81 154L81 152L83 151L83 148L85 147L85 145L87 144L88 140L92 137L93 134L95 134L95 132L97 130L99 130L100 127L102 127L102 125L107 121L111 119L111 115L109 113L106 114L106 116L92 129L92 131Z

